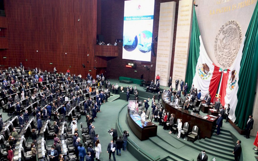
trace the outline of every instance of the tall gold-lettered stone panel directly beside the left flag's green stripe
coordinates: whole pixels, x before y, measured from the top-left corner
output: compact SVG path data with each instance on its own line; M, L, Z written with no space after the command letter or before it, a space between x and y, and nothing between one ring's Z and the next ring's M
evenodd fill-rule
M192 7L192 0L179 1L172 77L173 88L175 88L174 82L177 78L184 80L186 77L187 59L191 37Z

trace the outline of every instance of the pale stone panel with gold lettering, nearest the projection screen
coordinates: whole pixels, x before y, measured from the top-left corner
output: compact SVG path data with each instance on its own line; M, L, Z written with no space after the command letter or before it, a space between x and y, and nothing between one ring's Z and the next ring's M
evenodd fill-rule
M170 77L175 11L176 2L160 3L155 75L159 74L162 86L167 86Z

